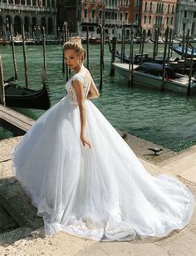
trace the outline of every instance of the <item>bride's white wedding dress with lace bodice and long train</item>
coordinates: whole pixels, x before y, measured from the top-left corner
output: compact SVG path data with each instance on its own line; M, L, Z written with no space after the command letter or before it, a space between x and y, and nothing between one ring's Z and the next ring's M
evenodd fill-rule
M91 101L86 100L86 137L71 81L91 75L82 67L67 83L66 97L32 125L14 148L13 172L48 235L57 231L96 240L162 237L189 223L194 197L177 179L153 177Z

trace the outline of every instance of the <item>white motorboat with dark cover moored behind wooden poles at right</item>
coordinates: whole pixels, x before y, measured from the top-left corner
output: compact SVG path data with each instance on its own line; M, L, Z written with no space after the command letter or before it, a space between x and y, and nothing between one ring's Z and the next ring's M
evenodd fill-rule
M116 71L126 79L130 78L129 64L113 63ZM133 83L135 86L160 89L162 81L163 65L159 63L142 63L134 65ZM165 66L164 89L176 93L188 93L189 76L174 73L173 68ZM190 93L196 93L196 80L190 80Z

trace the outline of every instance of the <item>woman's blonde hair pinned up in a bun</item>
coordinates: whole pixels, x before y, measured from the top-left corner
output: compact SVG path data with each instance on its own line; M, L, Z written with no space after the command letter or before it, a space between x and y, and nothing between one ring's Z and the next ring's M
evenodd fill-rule
M69 38L69 41L64 43L63 52L66 50L74 50L76 53L81 54L81 61L83 62L86 58L85 49L81 45L81 38L73 37Z

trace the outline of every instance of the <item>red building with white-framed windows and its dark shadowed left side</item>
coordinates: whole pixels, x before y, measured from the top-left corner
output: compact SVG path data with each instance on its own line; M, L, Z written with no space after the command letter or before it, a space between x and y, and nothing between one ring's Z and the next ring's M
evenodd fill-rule
M100 38L99 24L102 24L106 38L114 35L120 38L122 25L130 24L130 20L134 22L130 15L133 1L130 0L57 0L57 3L57 26L61 28L66 21L69 32L81 37L86 37L88 26L89 36ZM126 35L129 37L130 28L127 28Z

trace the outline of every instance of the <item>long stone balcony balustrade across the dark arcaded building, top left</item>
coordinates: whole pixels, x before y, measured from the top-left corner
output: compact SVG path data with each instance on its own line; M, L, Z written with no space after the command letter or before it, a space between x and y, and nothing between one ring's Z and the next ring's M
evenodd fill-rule
M7 3L0 3L0 8L9 11L21 11L21 12L42 12L42 13L56 13L57 8L39 8L38 6L30 5L13 5Z

